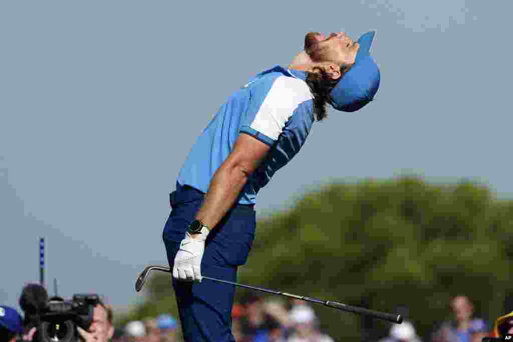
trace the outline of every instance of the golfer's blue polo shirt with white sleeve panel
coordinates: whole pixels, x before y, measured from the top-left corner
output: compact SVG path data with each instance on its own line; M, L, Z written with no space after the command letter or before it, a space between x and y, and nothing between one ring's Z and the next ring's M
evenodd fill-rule
M313 96L305 78L305 72L275 66L250 79L210 120L177 182L206 193L237 137L249 134L271 147L238 200L239 204L255 204L259 190L299 152L312 127Z

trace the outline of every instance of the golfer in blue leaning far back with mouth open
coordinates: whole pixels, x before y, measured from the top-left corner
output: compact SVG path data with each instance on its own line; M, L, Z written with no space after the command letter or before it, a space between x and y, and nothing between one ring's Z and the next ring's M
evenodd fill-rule
M186 341L235 341L232 285L255 236L261 188L296 155L326 106L356 111L380 83L369 55L374 32L309 32L288 68L257 74L221 106L196 140L170 194L163 232Z

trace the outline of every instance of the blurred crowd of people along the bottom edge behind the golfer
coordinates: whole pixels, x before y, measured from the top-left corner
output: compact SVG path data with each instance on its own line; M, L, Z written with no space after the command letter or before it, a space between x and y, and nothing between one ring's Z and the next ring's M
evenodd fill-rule
M34 297L37 292L31 293ZM22 298L20 305L24 317L14 308L0 306L0 342L35 342L36 327L30 324L33 317L26 311L30 305ZM418 336L415 324L406 319L400 325L393 324L388 336L377 342L480 342L483 337L513 333L513 312L490 325L476 317L468 297L452 298L450 307L452 319L434 327L430 336ZM180 322L169 313L128 321L119 327L114 327L113 319L112 308L100 300L94 306L89 329L78 328L80 339L83 342L183 341ZM249 295L233 305L232 331L236 342L333 342L321 326L314 308L299 299L285 301L277 296Z

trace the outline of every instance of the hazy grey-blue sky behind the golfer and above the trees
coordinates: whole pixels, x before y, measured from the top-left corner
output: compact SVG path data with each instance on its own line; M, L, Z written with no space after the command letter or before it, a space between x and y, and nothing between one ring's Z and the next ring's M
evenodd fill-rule
M377 30L375 101L315 124L260 216L333 179L467 177L511 198L511 1L0 2L0 304L38 280L117 307L166 264L168 193L197 135L308 31ZM277 232L280 234L280 232ZM265 284L261 284L265 285ZM53 291L50 291L53 293Z

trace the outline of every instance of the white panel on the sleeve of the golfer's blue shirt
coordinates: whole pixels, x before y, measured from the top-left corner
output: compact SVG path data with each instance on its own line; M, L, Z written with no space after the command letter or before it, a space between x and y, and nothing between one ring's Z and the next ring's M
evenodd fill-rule
M310 88L304 81L280 76L272 84L250 128L277 140L294 110L312 98Z

